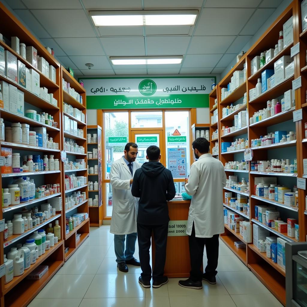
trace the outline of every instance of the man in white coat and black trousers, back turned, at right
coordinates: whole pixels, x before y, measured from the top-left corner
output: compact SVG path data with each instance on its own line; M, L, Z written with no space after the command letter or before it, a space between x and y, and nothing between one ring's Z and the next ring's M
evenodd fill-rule
M219 235L224 232L223 188L226 174L223 164L208 153L209 142L205 138L197 138L192 147L198 160L192 164L185 185L185 191L192 195L186 231L189 236L191 272L190 278L180 280L179 285L202 289L202 279L216 284ZM208 259L205 273L200 270L204 246Z

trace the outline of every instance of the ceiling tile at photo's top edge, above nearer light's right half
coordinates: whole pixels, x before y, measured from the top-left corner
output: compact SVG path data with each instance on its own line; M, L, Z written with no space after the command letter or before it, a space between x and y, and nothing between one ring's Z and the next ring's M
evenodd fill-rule
M144 8L146 9L177 9L177 8L200 8L203 0L144 0Z

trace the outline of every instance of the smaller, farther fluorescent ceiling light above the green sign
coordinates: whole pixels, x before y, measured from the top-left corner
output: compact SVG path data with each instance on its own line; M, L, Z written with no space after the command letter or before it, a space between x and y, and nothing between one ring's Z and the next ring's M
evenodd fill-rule
M183 56L110 56L113 65L181 64Z

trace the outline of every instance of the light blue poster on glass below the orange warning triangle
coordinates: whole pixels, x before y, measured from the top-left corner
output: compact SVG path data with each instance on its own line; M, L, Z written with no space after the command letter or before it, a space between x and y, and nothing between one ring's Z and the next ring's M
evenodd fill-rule
M185 178L187 176L187 155L185 148L168 148L168 169L173 178Z

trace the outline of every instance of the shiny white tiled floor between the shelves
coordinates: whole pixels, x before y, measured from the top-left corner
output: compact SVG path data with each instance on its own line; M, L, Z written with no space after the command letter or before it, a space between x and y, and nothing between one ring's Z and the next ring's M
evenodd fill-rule
M216 285L203 282L202 290L185 289L179 278L171 278L159 289L144 289L138 283L139 267L117 270L109 229L91 228L90 237L29 307L263 307L263 301L282 306L222 241Z

